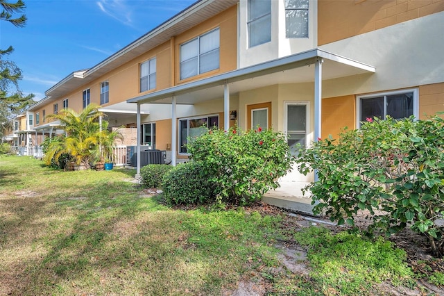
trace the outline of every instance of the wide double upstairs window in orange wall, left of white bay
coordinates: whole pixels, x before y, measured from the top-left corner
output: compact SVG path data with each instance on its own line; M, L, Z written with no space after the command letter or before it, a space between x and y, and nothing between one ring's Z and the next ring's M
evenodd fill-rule
M219 28L180 45L180 79L219 69Z

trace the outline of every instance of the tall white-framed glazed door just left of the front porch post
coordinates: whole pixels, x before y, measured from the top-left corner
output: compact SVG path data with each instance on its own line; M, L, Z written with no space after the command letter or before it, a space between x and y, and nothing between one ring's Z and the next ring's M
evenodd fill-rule
M305 102L285 104L285 135L292 155L298 153L298 144L302 148L307 145L307 111Z

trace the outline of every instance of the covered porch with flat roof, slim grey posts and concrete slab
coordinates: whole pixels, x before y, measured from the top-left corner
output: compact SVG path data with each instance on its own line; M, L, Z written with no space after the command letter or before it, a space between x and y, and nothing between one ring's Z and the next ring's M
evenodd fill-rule
M287 133L284 122L287 102L304 102L307 105L307 133L305 145L322 138L322 98L323 83L334 85L334 79L348 76L362 76L375 73L375 67L349 58L338 56L322 49L313 49L300 54L271 60L266 63L237 69L207 79L185 83L165 90L129 99L128 103L137 104L137 127L140 126L141 108L144 104L168 104L171 106L171 163L176 165L178 156L178 116L177 106L191 104L202 106L212 101L223 101L223 129L230 128L230 113L237 110L237 124L248 129L249 105L270 101L271 127ZM222 127L222 126L220 126ZM140 135L140 132L137 132ZM139 142L139 141L138 141ZM139 147L137 147L139 149ZM316 175L302 176L289 172L279 180L280 188L268 192L264 201L294 211L311 213L311 199L302 195L301 189ZM140 165L137 163L137 177Z

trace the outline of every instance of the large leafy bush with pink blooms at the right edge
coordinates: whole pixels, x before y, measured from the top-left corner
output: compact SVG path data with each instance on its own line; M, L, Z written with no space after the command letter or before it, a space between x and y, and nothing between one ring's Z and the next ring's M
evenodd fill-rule
M391 234L409 226L442 255L444 120L367 121L338 140L313 143L297 157L300 172L318 174L318 182L306 188L315 213L353 225L354 215L368 210L370 230Z

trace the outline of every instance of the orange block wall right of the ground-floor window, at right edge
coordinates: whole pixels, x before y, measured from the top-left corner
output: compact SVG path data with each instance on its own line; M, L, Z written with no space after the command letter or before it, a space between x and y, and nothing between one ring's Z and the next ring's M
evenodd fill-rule
M420 119L425 120L440 111L444 111L444 82L421 85L419 87Z

